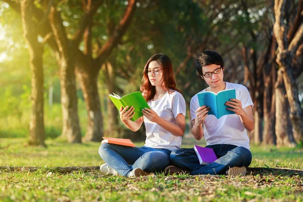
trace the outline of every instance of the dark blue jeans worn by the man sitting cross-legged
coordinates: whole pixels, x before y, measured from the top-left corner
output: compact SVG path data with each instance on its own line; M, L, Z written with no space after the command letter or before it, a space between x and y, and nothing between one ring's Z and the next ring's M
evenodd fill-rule
M193 148L179 148L172 151L170 155L171 164L190 171L191 175L217 175L225 174L226 170L235 166L248 167L251 162L251 153L243 146L214 144L206 147L214 149L218 160L208 165L200 165Z

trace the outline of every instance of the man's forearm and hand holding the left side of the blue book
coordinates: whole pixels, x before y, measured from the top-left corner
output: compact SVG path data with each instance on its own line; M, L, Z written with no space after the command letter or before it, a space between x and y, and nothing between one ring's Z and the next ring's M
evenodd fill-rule
M193 127L191 132L195 139L200 140L204 135L203 123L209 112L209 107L201 106L195 111L196 118L192 120Z

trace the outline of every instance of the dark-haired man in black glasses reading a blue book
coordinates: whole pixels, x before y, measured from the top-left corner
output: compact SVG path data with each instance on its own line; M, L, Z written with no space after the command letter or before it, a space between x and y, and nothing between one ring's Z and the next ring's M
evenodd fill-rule
M213 148L218 158L208 165L200 165L193 148L180 148L170 155L170 173L186 171L191 175L226 174L245 175L246 167L251 162L249 138L246 130L254 129L251 97L246 87L223 80L224 63L221 56L214 51L205 51L196 59L196 69L201 78L209 85L198 92L235 89L236 99L226 102L228 110L235 114L222 116L217 119L209 115L208 106L199 106L197 94L190 101L190 114L194 137L200 140L205 136L208 148Z

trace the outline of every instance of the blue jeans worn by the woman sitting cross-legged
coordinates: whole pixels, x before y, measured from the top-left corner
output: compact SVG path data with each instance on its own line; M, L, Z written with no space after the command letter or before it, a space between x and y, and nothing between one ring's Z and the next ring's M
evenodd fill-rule
M169 165L170 153L169 149L146 146L131 147L103 143L99 147L100 157L122 176L129 176L135 168L140 168L146 173L161 172Z

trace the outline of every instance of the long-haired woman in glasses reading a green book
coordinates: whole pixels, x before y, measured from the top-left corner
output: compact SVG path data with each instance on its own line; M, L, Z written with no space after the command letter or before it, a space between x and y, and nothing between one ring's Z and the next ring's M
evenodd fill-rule
M169 165L171 151L181 146L186 106L176 88L172 62L166 55L156 54L147 61L140 90L150 109L143 109L144 116L131 121L134 108L121 107L120 119L132 131L139 130L144 122L145 144L142 147L100 145L99 155L106 162L100 167L103 173L138 177L161 172Z

